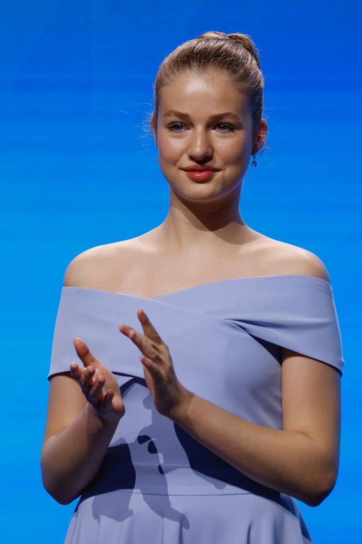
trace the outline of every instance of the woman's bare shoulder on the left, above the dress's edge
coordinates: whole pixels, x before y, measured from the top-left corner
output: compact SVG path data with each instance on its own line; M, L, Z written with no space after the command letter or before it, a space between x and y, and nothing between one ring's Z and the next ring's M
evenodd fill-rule
M133 240L103 244L82 251L68 264L64 287L99 289L110 281L110 274L122 276L134 255Z

